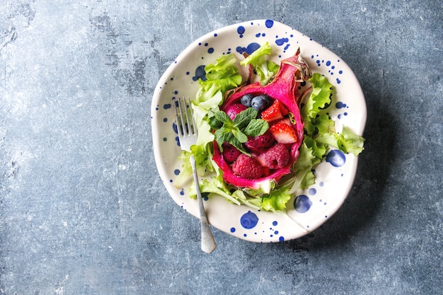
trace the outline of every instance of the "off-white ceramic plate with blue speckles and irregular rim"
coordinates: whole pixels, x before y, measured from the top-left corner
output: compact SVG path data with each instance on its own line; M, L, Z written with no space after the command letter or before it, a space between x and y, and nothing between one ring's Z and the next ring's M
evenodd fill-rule
M180 171L180 147L173 129L173 99L195 97L202 66L214 63L222 54L251 50L268 41L274 62L292 56L297 48L313 72L323 74L333 84L335 95L328 112L336 129L343 125L362 135L366 104L359 83L345 62L330 50L287 25L270 20L248 21L215 30L192 42L157 84L151 105L152 135L157 169L173 200L185 212L198 216L197 201L188 197L188 187L176 188L173 180ZM244 73L246 74L246 72ZM357 170L357 157L332 150L316 167L316 183L299 190L282 213L256 211L215 196L205 200L209 223L217 229L247 241L272 243L299 238L321 226L343 204Z

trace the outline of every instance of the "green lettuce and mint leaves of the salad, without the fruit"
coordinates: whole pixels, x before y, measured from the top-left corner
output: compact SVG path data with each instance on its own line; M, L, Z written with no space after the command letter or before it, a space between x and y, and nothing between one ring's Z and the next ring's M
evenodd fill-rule
M271 47L266 43L240 62L243 66L253 66L263 85L273 78L280 67L267 60L266 56L270 52ZM270 193L258 196L260 192L250 191L248 194L241 188L228 185L223 180L222 170L212 160L214 140L220 147L224 141L229 141L246 153L242 143L246 142L247 136L263 134L269 128L266 121L255 119L257 112L252 108L243 110L234 120L219 109L226 91L243 83L236 62L238 60L234 54L224 54L215 64L205 66L206 80L199 79L200 88L195 100L192 100L199 137L197 144L191 147L191 153L195 156L199 175L214 175L210 181L203 179L200 182L200 190L209 197L212 194L222 195L234 204L246 204L267 211L281 211L286 208L292 193L299 188L313 185L313 167L323 161L331 147L357 156L364 149L364 139L347 127L343 127L341 132L335 131L335 122L325 110L331 103L332 85L325 76L314 73L308 80L311 83L311 93L300 105L305 134L299 148L299 158L292 166L289 177L282 178L280 183L272 187ZM189 152L182 151L180 160L183 161L183 167L174 180L173 184L176 187L183 186L192 175L189 156ZM189 195L196 197L194 185L190 185Z

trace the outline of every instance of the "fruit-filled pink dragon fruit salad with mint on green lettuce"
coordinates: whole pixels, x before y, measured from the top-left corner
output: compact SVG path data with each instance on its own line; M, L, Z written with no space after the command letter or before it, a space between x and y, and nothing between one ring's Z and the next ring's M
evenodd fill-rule
M207 176L200 190L209 197L279 211L295 190L313 184L312 168L331 146L357 156L364 139L346 127L335 132L334 122L321 112L330 104L332 85L311 73L300 50L280 65L267 59L270 53L265 43L241 61L224 54L205 66L192 100L199 139L191 153L200 175ZM248 67L247 79L238 62ZM189 155L181 155L177 187L190 177ZM189 195L195 195L192 185Z

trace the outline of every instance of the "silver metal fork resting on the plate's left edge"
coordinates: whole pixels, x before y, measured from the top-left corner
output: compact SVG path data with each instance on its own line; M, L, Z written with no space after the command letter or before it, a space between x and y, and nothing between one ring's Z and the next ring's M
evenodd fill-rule
M192 115L192 108L190 100L186 98L178 98L175 102L176 124L178 139L180 140L180 147L184 151L190 151L192 144L197 142L197 127L195 126L194 117ZM192 175L194 176L195 188L197 190L198 209L200 211L200 227L202 235L202 250L206 253L212 253L217 245L215 245L214 237L212 236L209 222L203 206L202 193L200 192L200 185L198 184L197 170L195 168L195 158L190 155L190 164L192 166Z

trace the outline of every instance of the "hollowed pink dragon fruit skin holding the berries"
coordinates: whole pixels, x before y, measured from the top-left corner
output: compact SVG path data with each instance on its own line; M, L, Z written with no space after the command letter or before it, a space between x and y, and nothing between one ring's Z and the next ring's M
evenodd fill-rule
M280 69L272 80L271 83L266 86L261 86L260 82L248 84L246 86L240 86L234 91L226 93L226 98L221 110L228 110L231 105L239 103L240 98L248 93L253 93L255 96L260 94L267 94L273 99L277 99L282 103L289 112L294 115L293 127L297 132L297 141L290 146L290 160L287 166L283 168L273 170L270 175L257 179L246 179L232 172L232 168L227 163L217 143L214 142L214 156L215 163L223 171L223 178L226 183L235 185L236 187L242 187L246 190L260 190L260 193L268 193L272 187L278 183L278 181L284 176L290 173L290 168L299 156L299 147L303 141L303 127L304 123L300 116L298 100L299 100L299 83L306 81L311 77L311 71L308 65L299 57L299 50L294 56L282 60Z

